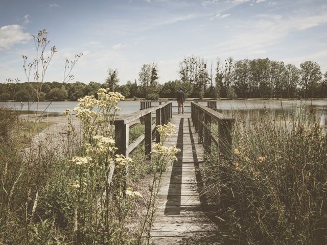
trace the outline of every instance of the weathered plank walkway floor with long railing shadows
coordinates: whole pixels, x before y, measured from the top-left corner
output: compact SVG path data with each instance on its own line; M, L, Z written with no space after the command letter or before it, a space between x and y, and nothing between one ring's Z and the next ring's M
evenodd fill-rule
M174 114L171 122L176 132L165 145L175 145L181 152L176 155L178 161L170 163L162 176L151 241L155 244L214 244L204 242L203 238L215 236L218 230L205 211L204 195L199 196L203 189L199 171L203 145L198 143L190 114Z

